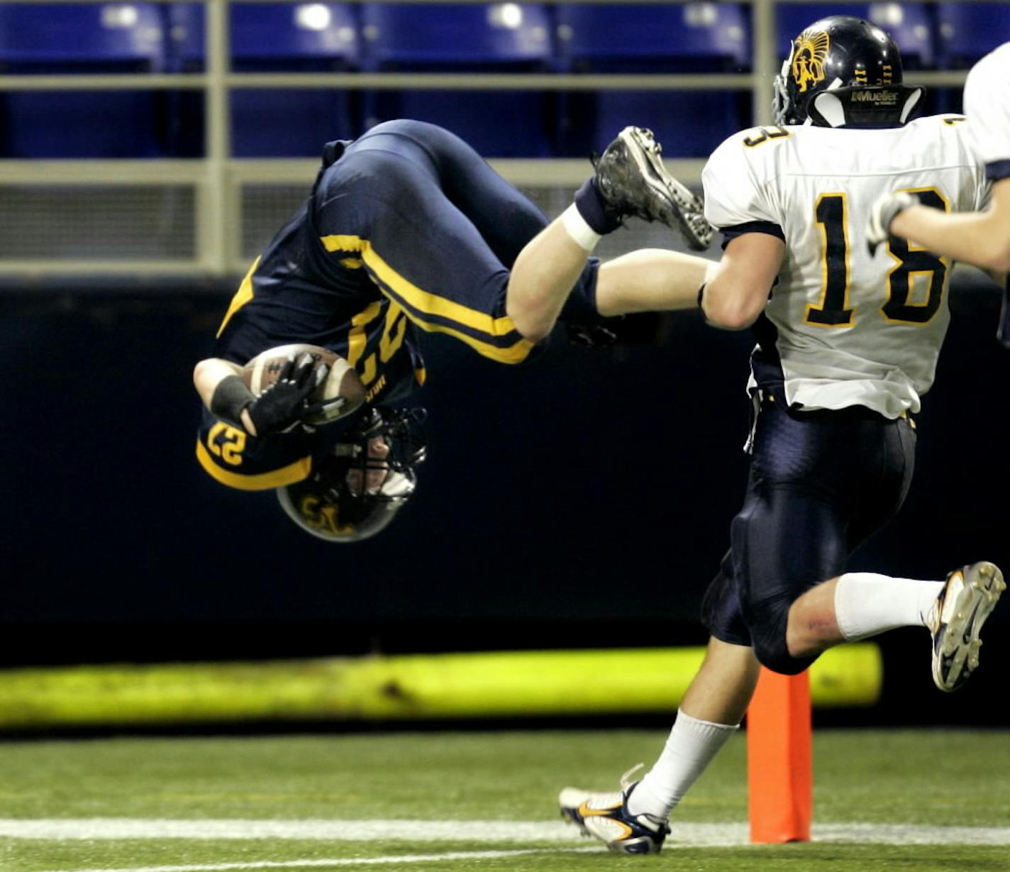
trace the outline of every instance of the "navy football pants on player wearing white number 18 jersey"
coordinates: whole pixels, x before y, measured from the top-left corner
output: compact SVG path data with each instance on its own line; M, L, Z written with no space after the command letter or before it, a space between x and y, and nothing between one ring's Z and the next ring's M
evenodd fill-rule
M776 672L806 669L813 660L790 657L786 647L790 605L844 572L848 556L894 516L914 454L908 418L863 406L793 411L766 395L743 507L702 606L709 633L752 646Z

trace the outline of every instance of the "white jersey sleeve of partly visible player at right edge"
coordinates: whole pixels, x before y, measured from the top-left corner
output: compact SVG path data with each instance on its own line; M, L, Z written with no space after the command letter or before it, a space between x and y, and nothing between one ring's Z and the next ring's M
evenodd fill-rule
M979 61L965 83L972 138L992 180L1010 176L1010 42Z

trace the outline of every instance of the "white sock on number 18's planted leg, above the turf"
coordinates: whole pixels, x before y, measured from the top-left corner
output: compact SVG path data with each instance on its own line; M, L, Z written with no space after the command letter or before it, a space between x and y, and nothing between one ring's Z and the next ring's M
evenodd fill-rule
M738 723L712 723L678 711L663 754L628 797L628 811L669 817L726 740L739 729Z

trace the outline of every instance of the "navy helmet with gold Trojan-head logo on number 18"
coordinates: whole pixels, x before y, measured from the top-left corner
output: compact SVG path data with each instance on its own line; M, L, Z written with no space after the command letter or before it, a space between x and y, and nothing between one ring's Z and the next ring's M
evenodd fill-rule
M829 15L793 40L775 80L775 122L821 127L904 124L922 88L902 84L901 53L884 30Z

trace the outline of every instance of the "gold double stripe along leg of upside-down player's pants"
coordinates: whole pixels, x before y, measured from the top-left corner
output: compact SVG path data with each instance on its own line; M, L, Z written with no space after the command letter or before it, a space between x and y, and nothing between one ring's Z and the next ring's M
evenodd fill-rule
M503 336L515 330L515 324L507 315L495 318L487 312L472 309L462 303L439 297L430 291L422 290L407 281L389 266L372 248L368 239L351 235L322 236L320 240L327 252L361 252L362 260L373 273L388 285L393 292L402 297L410 306L423 314L437 315L456 321L463 326L471 327L491 336ZM525 360L533 348L533 343L526 338L517 340L508 348L484 343L474 336L454 330L442 324L431 323L412 311L406 311L407 316L419 327L428 332L443 332L465 342L485 357L503 363L518 363Z

